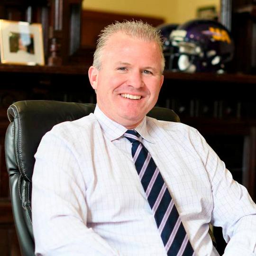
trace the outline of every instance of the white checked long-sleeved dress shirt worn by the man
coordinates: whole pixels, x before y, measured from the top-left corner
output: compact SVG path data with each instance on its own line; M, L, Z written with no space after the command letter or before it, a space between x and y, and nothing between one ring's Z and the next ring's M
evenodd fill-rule
M37 255L165 256L131 156L127 129L94 114L56 125L38 147L32 219ZM136 128L155 160L197 256L256 256L256 205L199 132L145 117Z

